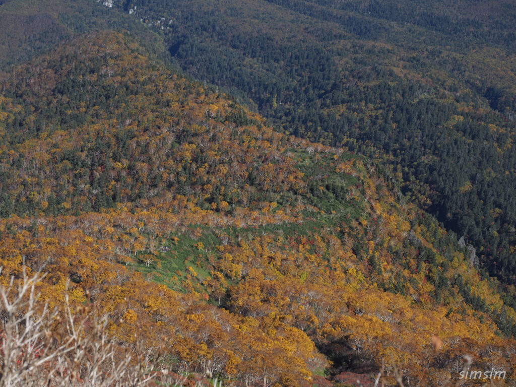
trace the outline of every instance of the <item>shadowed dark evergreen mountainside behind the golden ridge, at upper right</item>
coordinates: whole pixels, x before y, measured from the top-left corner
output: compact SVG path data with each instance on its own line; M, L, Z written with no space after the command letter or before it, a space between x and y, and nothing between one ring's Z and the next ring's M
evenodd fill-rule
M514 299L512 2L124 0L181 67L277 128L360 151Z

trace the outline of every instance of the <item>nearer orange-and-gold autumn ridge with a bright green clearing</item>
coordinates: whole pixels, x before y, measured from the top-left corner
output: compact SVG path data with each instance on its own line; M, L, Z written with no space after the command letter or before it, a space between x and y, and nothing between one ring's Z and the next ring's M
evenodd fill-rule
M121 348L225 383L441 386L465 354L514 383L514 310L369 159L273 131L128 34L0 90L3 285L44 268L41 301L69 282Z

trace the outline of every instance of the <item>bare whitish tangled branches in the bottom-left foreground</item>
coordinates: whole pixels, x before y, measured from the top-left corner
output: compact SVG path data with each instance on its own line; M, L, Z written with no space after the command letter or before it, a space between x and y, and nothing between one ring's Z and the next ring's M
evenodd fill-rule
M67 295L62 310L38 302L36 286L43 278L24 272L19 285L11 278L0 287L0 387L169 381L160 363L163 351L121 348L110 340L107 316L82 306L72 310Z

